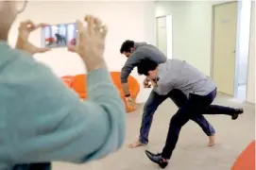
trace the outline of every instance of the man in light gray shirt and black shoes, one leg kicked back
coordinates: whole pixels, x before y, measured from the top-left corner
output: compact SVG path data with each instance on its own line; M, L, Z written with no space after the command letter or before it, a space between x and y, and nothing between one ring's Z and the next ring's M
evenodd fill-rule
M232 120L243 113L243 109L211 105L216 96L216 86L210 77L200 73L195 67L178 59L167 59L159 64L150 59L142 59L138 73L150 78L159 95L166 95L173 89L185 93L187 100L173 115L161 154L145 151L147 157L162 168L167 164L179 139L179 131L190 119L202 114L226 114Z

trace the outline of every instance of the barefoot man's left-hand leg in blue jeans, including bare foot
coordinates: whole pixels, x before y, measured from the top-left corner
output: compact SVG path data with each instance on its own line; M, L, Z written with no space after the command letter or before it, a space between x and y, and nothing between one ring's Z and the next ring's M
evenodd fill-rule
M152 90L145 102L139 141L129 144L128 146L130 148L148 143L148 134L152 124L153 114L166 98L167 95L159 95Z

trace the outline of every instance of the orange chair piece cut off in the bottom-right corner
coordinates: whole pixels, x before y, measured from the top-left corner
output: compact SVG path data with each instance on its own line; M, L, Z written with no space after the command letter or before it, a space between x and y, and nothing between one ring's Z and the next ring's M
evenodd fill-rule
M231 170L255 170L255 141L247 145L234 162Z

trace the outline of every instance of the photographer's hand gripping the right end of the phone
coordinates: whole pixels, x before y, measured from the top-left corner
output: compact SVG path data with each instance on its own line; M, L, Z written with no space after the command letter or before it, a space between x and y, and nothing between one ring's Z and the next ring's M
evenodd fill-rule
M106 67L103 59L105 51L105 39L108 32L107 26L92 15L84 18L87 26L77 20L77 44L68 46L68 50L76 52L85 61L88 71Z

